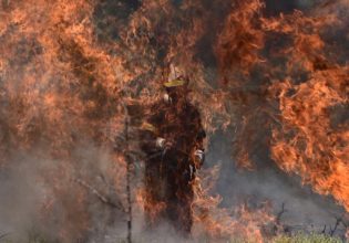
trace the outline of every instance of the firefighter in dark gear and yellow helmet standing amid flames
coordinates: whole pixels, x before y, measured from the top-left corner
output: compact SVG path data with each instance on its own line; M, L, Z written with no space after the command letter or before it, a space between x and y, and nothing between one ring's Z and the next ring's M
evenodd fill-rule
M188 102L187 84L182 76L170 77L163 101L151 107L141 129L146 221L153 226L165 219L184 234L193 224L193 180L204 162L206 137L199 113Z

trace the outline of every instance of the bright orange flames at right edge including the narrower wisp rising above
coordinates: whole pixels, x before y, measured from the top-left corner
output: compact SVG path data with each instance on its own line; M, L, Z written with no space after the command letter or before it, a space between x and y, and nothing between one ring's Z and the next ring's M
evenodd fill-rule
M298 173L315 191L333 196L348 211L348 123L336 122L336 116L348 106L349 73L346 64L330 61L319 34L328 25L340 24L333 14L306 18L301 12L266 24L294 40L294 49L284 51L291 55L287 78L269 86L280 110L270 149L283 170ZM306 72L307 80L297 84L295 72Z

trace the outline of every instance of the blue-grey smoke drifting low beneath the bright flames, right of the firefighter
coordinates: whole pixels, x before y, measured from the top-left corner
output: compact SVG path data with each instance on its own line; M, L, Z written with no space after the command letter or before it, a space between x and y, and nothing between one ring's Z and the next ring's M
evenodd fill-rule
M255 170L242 170L232 158L232 145L224 138L225 135L218 133L213 137L205 165L207 168L220 165L218 181L212 190L213 194L222 196L220 207L235 208L246 203L258 208L268 202L277 215L284 204L280 220L288 230L318 233L325 225L329 230L337 218L345 215L346 210L333 198L319 196L309 186L304 186L300 178L280 171L267 155L255 155L258 162ZM346 228L339 225L336 234L345 233Z

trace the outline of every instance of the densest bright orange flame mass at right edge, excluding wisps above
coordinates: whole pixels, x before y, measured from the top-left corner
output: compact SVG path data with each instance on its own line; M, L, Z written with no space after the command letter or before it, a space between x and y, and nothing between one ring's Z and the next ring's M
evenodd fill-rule
M316 73L305 84L280 83L283 127L273 131L271 152L283 170L296 171L348 210L348 124L331 120L331 113L348 103L347 78L348 70L335 68Z

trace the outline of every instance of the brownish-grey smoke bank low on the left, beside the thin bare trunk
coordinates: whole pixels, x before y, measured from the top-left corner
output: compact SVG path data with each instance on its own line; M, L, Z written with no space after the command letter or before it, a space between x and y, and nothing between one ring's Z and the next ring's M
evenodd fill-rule
M18 242L33 235L65 242L125 237L124 177L110 151L76 145L73 166L32 152L12 155L1 169L1 233Z

